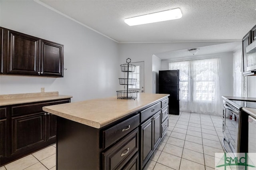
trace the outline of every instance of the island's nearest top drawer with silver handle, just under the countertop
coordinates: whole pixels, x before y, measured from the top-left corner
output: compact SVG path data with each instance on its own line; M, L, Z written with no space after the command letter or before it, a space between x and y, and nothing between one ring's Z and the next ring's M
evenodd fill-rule
M103 148L107 148L118 139L131 132L134 128L138 127L139 124L139 115L135 115L114 127L103 130Z

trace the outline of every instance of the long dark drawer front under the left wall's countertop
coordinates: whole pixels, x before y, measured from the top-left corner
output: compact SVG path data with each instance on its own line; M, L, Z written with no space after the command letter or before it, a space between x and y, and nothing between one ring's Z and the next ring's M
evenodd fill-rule
M48 101L42 103L29 103L24 105L12 106L12 117L18 115L28 115L33 113L44 112L42 107L50 105L58 105L62 103L70 103L70 99L60 100L60 101Z

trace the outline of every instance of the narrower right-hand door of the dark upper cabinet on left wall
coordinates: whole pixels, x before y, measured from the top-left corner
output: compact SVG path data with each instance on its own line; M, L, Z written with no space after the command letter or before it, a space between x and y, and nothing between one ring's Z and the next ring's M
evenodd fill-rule
M41 70L42 75L63 77L63 45L41 40Z

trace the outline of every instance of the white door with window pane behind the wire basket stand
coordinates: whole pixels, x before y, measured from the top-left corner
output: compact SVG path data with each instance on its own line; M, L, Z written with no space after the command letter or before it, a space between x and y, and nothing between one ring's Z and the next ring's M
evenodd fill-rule
M133 73L129 72L129 79L137 79L136 85L129 85L129 90L136 90L139 93L144 93L144 61L130 63L136 65L135 71Z

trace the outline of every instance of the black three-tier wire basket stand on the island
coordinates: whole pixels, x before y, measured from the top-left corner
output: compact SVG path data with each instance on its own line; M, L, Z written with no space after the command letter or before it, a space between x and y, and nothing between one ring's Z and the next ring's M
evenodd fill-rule
M120 85L127 85L127 90L118 90L117 93L117 99L137 99L138 92L136 90L128 90L128 85L136 85L137 79L129 79L129 72L134 72L136 65L130 64L131 59L126 59L127 64L121 64L121 71L127 72L127 79L126 78L119 78L119 84Z

